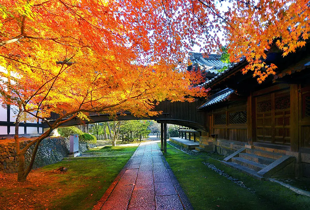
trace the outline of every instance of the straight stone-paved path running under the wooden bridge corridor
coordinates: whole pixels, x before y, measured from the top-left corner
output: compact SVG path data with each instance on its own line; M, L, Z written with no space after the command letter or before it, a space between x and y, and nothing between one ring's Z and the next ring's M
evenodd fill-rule
M158 141L139 145L93 210L191 210Z

